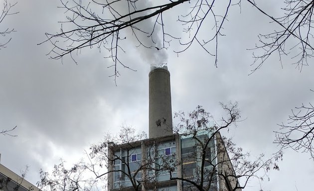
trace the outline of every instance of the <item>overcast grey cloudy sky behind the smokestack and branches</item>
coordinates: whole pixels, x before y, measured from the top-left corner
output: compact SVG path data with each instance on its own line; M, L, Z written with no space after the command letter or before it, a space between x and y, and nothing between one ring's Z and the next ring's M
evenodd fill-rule
M269 13L281 14L281 1L256 3ZM51 170L60 158L69 164L77 162L90 144L107 132L115 134L122 125L147 132L148 74L153 62L161 62L154 60L151 50L126 41L123 45L127 51L120 57L136 71L120 67L121 76L115 83L109 77L114 72L108 68L112 61L96 48L75 55L77 65L69 58L63 63L49 59L46 54L51 44L37 44L46 39L45 32L59 31L58 21L65 15L58 5L59 0L19 0L14 7L19 13L0 23L0 28L16 30L7 47L0 50L0 130L17 125L12 132L17 137L0 135L0 163L17 174L28 165L26 180L32 184L39 180L39 169ZM186 6L165 14L167 29L182 38L175 19ZM146 24L149 22L142 26ZM224 135L233 137L253 156L261 152L271 156L278 151L273 131L279 130L278 123L287 122L292 108L313 102L310 89L314 78L313 66L300 72L286 57L282 67L275 55L249 75L254 59L247 49L255 47L259 33L273 29L274 23L242 1L241 9L230 9L225 36L219 38L217 67L215 58L200 47L192 45L177 55L173 50L180 49L178 43L171 44L162 52L162 61L171 75L172 111L188 112L202 105L219 119L219 102L237 101L243 120ZM209 24L205 25L202 35L211 33ZM280 171L269 174L270 181L251 181L245 190L313 188L310 154L285 150L279 167Z

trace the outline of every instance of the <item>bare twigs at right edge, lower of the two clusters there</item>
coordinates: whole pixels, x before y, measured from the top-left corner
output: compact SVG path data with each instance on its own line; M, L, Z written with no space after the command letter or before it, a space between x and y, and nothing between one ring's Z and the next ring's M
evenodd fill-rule
M310 153L314 159L314 106L302 104L292 110L288 123L281 123L276 131L274 143L281 149L292 148L295 151Z

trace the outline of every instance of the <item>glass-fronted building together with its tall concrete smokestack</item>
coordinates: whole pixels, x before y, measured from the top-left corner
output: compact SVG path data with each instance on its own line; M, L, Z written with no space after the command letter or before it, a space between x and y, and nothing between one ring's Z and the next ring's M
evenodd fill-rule
M213 133L211 127L173 133L167 67L153 66L149 81L149 139L108 144L108 191L236 188L238 181L220 133Z

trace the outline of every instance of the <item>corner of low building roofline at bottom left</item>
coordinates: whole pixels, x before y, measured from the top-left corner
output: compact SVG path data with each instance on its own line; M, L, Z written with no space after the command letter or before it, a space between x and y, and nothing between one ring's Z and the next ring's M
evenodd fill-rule
M39 191L39 189L0 164L0 191Z

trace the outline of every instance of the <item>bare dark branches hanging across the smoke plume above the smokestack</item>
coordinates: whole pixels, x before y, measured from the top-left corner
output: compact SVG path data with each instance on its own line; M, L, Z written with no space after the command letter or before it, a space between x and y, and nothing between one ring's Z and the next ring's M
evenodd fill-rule
M138 46L153 48L156 54L168 49L170 42L174 40L181 44L179 50L174 50L176 54L184 52L196 43L206 53L215 57L214 64L217 66L218 37L223 35L223 24L231 6L231 0L228 0L223 11L213 9L216 4L218 6L215 0L154 1L154 4L143 0L60 1L62 4L60 8L65 9L66 20L60 22L59 33L46 33L47 39L44 42L50 42L53 46L48 53L50 58L62 60L68 55L77 63L73 54L77 54L82 49L95 47L100 51L106 50L109 54L104 57L112 59L114 64L109 67L114 68L112 76L115 78L120 75L119 66L131 69L119 59L118 55L126 52L121 43L125 39L132 38L135 38ZM240 1L234 4L239 4ZM170 34L163 19L164 13L182 4L190 6L189 11L175 16L184 27L182 32L188 35L188 38L184 39L176 37L176 33ZM215 32L208 34L207 39L202 39L199 33L206 30L202 26L205 20L210 21L210 19L215 21L212 24ZM146 24L142 24L146 21L148 21ZM210 43L215 44L213 50L210 48Z

